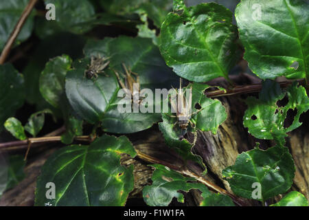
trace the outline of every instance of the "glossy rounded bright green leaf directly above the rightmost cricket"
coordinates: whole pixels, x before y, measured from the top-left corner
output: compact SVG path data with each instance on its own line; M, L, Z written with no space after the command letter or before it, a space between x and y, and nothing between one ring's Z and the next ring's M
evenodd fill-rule
M170 12L161 26L161 54L179 76L207 82L228 73L238 61L232 14L216 3L202 3L183 14Z

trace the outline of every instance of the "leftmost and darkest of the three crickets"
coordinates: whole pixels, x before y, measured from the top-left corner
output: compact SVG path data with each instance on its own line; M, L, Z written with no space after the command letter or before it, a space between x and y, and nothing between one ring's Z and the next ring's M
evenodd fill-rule
M104 69L108 66L109 63L110 61L107 61L107 58L101 56L91 56L90 65L84 72L84 75L89 79L92 79L93 77L97 79L98 74L104 73Z

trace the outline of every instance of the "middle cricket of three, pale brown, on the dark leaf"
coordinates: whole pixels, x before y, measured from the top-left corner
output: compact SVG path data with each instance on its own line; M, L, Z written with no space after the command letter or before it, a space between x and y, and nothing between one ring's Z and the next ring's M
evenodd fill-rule
M125 76L122 74L124 81L122 81L122 79L120 78L119 73L114 70L118 82L122 89L128 91L126 92L128 93L128 96L133 96L133 102L139 104L139 102L141 102L141 100L139 99L139 76L135 72L132 72L130 68L126 68L126 65L124 65L124 63L122 63L122 67L124 68L124 72L126 73ZM133 77L133 75L135 75L135 77Z

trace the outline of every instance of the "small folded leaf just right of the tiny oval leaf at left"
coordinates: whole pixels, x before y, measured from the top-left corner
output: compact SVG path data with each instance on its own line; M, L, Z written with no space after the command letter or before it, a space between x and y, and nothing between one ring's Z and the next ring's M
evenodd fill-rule
M25 124L25 130L29 132L33 137L43 129L45 122L45 113L52 114L52 111L49 109L45 109L43 111L38 111L33 113L28 119L27 124Z

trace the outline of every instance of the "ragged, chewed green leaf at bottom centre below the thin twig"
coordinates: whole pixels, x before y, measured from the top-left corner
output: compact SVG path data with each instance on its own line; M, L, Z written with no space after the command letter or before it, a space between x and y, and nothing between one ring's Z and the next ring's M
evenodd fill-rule
M155 167L152 185L143 189L144 201L148 206L168 206L174 197L183 203L184 197L179 191L188 192L191 189L201 190L204 198L201 203L203 206L234 206L231 198L209 192L205 185L197 183L194 178L184 177L163 165L151 166Z

